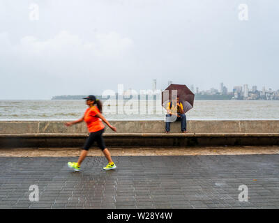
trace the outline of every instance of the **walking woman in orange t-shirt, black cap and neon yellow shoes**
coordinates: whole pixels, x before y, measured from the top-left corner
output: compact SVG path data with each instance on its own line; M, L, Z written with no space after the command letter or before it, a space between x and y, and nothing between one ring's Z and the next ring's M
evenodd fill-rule
M104 167L103 169L115 169L116 164L114 164L114 162L112 161L110 151L106 148L102 136L105 130L105 125L103 125L102 121L106 123L114 132L116 132L116 128L110 125L110 123L101 114L102 102L100 102L100 100L96 99L94 95L89 95L84 99L86 99L86 105L89 106L89 108L86 109L86 111L84 112L84 116L77 121L65 123L65 125L70 126L85 121L90 134L84 143L84 147L80 155L80 158L77 160L77 162L68 162L68 167L74 169L75 171L80 171L80 165L82 164L82 161L86 157L88 150L92 146L93 142L96 141L99 148L103 151L105 157L107 158L107 161L109 162L107 164L107 167ZM100 121L100 119L102 121Z

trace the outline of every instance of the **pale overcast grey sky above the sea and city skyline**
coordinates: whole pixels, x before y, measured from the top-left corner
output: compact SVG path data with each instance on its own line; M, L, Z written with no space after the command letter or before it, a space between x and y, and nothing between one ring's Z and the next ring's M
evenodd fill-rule
M0 0L0 99L139 91L152 79L278 90L278 21L278 0Z

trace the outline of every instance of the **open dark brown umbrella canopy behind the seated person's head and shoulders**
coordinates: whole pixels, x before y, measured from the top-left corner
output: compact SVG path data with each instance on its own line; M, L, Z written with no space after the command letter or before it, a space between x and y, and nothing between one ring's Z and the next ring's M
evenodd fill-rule
M194 107L195 94L190 91L185 84L170 84L167 89L162 92L162 106L166 109L167 103L171 101L172 98L175 98L176 95L183 105L184 113Z

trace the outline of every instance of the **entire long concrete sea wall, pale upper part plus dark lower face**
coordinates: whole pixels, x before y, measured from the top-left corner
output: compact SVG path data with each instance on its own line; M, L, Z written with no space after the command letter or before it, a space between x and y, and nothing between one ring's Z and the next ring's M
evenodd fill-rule
M0 148L82 147L86 125L66 127L66 121L0 121ZM110 146L259 146L279 145L279 121L187 121L165 133L164 121L110 121L105 130Z

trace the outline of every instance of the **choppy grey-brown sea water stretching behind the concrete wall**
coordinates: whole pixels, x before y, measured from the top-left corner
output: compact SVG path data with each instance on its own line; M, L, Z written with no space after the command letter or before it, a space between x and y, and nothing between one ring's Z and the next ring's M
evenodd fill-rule
M110 100L103 104L107 120L165 119L158 100L125 100L123 114L116 112L121 104ZM75 120L86 108L84 100L0 100L0 121ZM279 100L195 100L186 116L187 120L279 120Z

